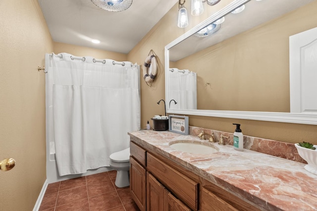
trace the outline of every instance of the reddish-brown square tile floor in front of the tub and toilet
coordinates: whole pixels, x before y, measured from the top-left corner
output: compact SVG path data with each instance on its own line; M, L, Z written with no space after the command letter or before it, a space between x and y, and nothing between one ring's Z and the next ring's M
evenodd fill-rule
M139 211L129 187L114 185L107 171L48 185L39 211Z

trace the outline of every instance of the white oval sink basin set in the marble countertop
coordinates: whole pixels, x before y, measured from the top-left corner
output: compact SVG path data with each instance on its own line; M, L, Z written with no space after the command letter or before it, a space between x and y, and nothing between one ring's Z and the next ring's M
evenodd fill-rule
M188 152L193 154L211 154L218 152L219 149L216 149L213 146L203 145L201 143L193 142L181 142L173 143L169 145L171 148L176 149L181 152Z

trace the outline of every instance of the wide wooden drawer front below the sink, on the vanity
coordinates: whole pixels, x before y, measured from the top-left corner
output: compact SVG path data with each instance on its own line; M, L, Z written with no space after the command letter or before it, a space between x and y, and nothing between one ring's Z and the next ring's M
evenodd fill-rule
M149 153L147 154L147 169L189 208L198 210L199 184L197 182L172 169Z

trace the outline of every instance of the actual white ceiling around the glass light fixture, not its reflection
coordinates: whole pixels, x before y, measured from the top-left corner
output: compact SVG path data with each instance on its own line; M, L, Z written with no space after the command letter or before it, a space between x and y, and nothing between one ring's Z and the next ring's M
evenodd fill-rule
M128 53L178 1L133 0L121 12L103 10L91 0L38 2L54 42Z

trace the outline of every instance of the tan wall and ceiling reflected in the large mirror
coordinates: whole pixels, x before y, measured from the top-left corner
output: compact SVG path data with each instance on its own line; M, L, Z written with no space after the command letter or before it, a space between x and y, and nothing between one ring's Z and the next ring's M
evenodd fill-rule
M280 1L250 0L222 17L223 23L213 22L169 50L171 68L197 72L197 109L290 111L289 34L265 22L279 22L303 2ZM290 25L284 28L290 31Z

